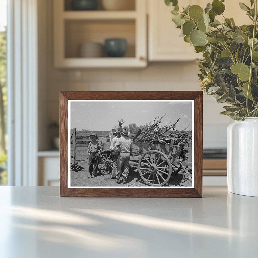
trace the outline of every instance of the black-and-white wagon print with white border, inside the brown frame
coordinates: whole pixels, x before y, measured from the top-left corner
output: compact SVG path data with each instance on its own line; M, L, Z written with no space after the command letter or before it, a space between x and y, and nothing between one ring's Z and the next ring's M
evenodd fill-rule
M69 188L194 186L192 100L69 100Z

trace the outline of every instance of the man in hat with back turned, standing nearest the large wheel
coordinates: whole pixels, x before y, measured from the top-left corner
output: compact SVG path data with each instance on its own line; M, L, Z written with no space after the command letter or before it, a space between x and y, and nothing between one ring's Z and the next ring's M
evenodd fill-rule
M122 129L122 136L117 139L115 143L115 151L118 154L117 157L117 170L116 170L116 182L120 184L120 175L121 168L124 166L123 172L123 183L125 184L127 181L128 173L129 173L129 162L130 162L130 153L132 153L132 140L128 138L130 132L125 128Z

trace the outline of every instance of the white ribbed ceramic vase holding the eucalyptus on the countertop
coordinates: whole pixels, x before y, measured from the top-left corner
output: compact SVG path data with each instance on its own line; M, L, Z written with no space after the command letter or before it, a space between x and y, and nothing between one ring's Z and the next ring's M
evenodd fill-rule
M258 197L258 118L227 128L228 191Z

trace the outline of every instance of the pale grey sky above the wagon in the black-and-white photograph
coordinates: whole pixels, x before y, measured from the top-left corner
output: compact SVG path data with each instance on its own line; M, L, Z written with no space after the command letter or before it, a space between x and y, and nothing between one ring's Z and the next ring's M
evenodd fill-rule
M192 102L168 101L71 101L71 128L77 130L109 131L123 119L124 126L135 123L144 125L153 122L155 117L166 113L163 121L176 122L182 130L192 126ZM189 130L188 129L188 130Z

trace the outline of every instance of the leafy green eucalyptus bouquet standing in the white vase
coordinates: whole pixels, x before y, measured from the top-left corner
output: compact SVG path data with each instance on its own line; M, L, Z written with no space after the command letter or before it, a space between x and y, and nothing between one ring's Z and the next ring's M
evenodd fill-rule
M258 116L258 33L257 0L250 5L239 3L251 25L236 26L225 18L224 0L208 3L203 9L192 5L179 10L178 0L165 0L174 6L172 21L181 29L180 36L202 52L198 60L201 90L218 103L227 103L225 111L234 120ZM215 19L221 16L223 22Z

